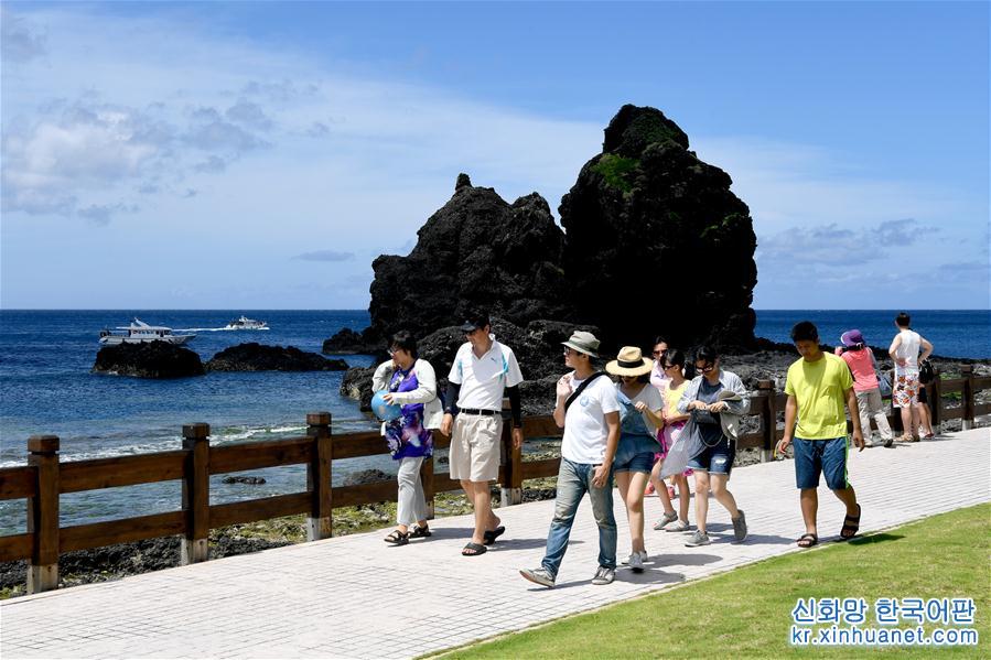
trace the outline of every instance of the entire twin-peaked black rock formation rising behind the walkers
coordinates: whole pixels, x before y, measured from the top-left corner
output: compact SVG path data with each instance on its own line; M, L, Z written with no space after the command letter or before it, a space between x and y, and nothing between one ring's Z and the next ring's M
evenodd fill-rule
M731 184L663 112L624 106L561 201L564 231L540 195L508 204L461 174L409 256L373 263L371 326L338 333L323 350L380 353L408 329L442 376L463 340L452 324L482 309L528 387L552 392L563 367L551 347L579 327L597 328L603 355L649 347L657 335L751 349L756 237ZM367 402L367 377L353 370L342 391Z

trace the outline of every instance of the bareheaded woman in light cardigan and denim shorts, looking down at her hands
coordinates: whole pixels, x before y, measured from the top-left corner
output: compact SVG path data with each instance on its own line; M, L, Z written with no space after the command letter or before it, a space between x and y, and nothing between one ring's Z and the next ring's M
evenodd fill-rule
M685 544L694 548L711 543L705 531L710 488L719 504L730 512L739 543L746 539L746 519L743 510L736 508L733 494L726 490L726 483L736 457L740 415L747 409L746 390L739 376L720 369L719 354L712 348L699 348L694 363L699 376L685 388L678 412L691 414L704 450L688 462L696 477L698 529Z

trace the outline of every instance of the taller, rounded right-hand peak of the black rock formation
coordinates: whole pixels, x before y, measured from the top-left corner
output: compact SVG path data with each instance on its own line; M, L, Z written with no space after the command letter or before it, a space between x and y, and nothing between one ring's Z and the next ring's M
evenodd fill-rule
M753 344L750 209L688 147L659 110L623 106L561 201L575 315L607 342Z

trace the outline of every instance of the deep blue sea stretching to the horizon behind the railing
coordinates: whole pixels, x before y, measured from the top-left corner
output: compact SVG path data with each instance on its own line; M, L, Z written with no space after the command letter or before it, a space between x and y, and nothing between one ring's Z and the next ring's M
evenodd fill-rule
M825 343L837 342L849 328L860 328L875 346L894 335L896 311L758 311L757 335L788 342L797 321L819 326ZM245 314L267 321L269 331L223 331ZM0 311L0 466L26 462L28 436L53 433L62 440L62 459L164 451L181 446L181 429L191 422L211 424L213 444L300 435L305 415L330 411L333 431L366 431L375 422L357 403L338 394L342 371L207 374L175 380L144 380L89 372L98 333L127 325L132 317L153 325L191 329L186 346L204 361L244 342L291 345L319 353L337 331L368 325L363 310L94 310ZM944 356L983 358L991 355L988 311L926 311L913 325ZM368 366L368 356L343 356L352 366ZM335 463L334 482L348 472L377 468L394 473L388 456ZM267 484L246 486L213 478L215 504L305 489L301 466L255 470ZM95 522L127 516L175 510L180 484L149 484L63 496L63 524ZM0 502L0 533L24 530L23 500Z

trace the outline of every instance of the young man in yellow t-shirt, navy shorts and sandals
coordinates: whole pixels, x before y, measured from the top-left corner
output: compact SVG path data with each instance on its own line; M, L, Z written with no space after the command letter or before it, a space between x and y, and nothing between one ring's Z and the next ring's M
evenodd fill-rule
M864 448L853 377L847 363L819 348L819 331L808 321L791 328L791 342L801 359L788 367L785 393L785 435L777 444L778 453L795 437L795 480L800 490L801 518L805 533L798 539L799 548L811 548L819 542L816 515L819 510L819 473L826 476L826 485L847 506L847 517L840 530L840 539L852 539L860 529L860 505L857 493L847 479L847 415L853 422L853 444ZM796 428L796 418L798 424Z

